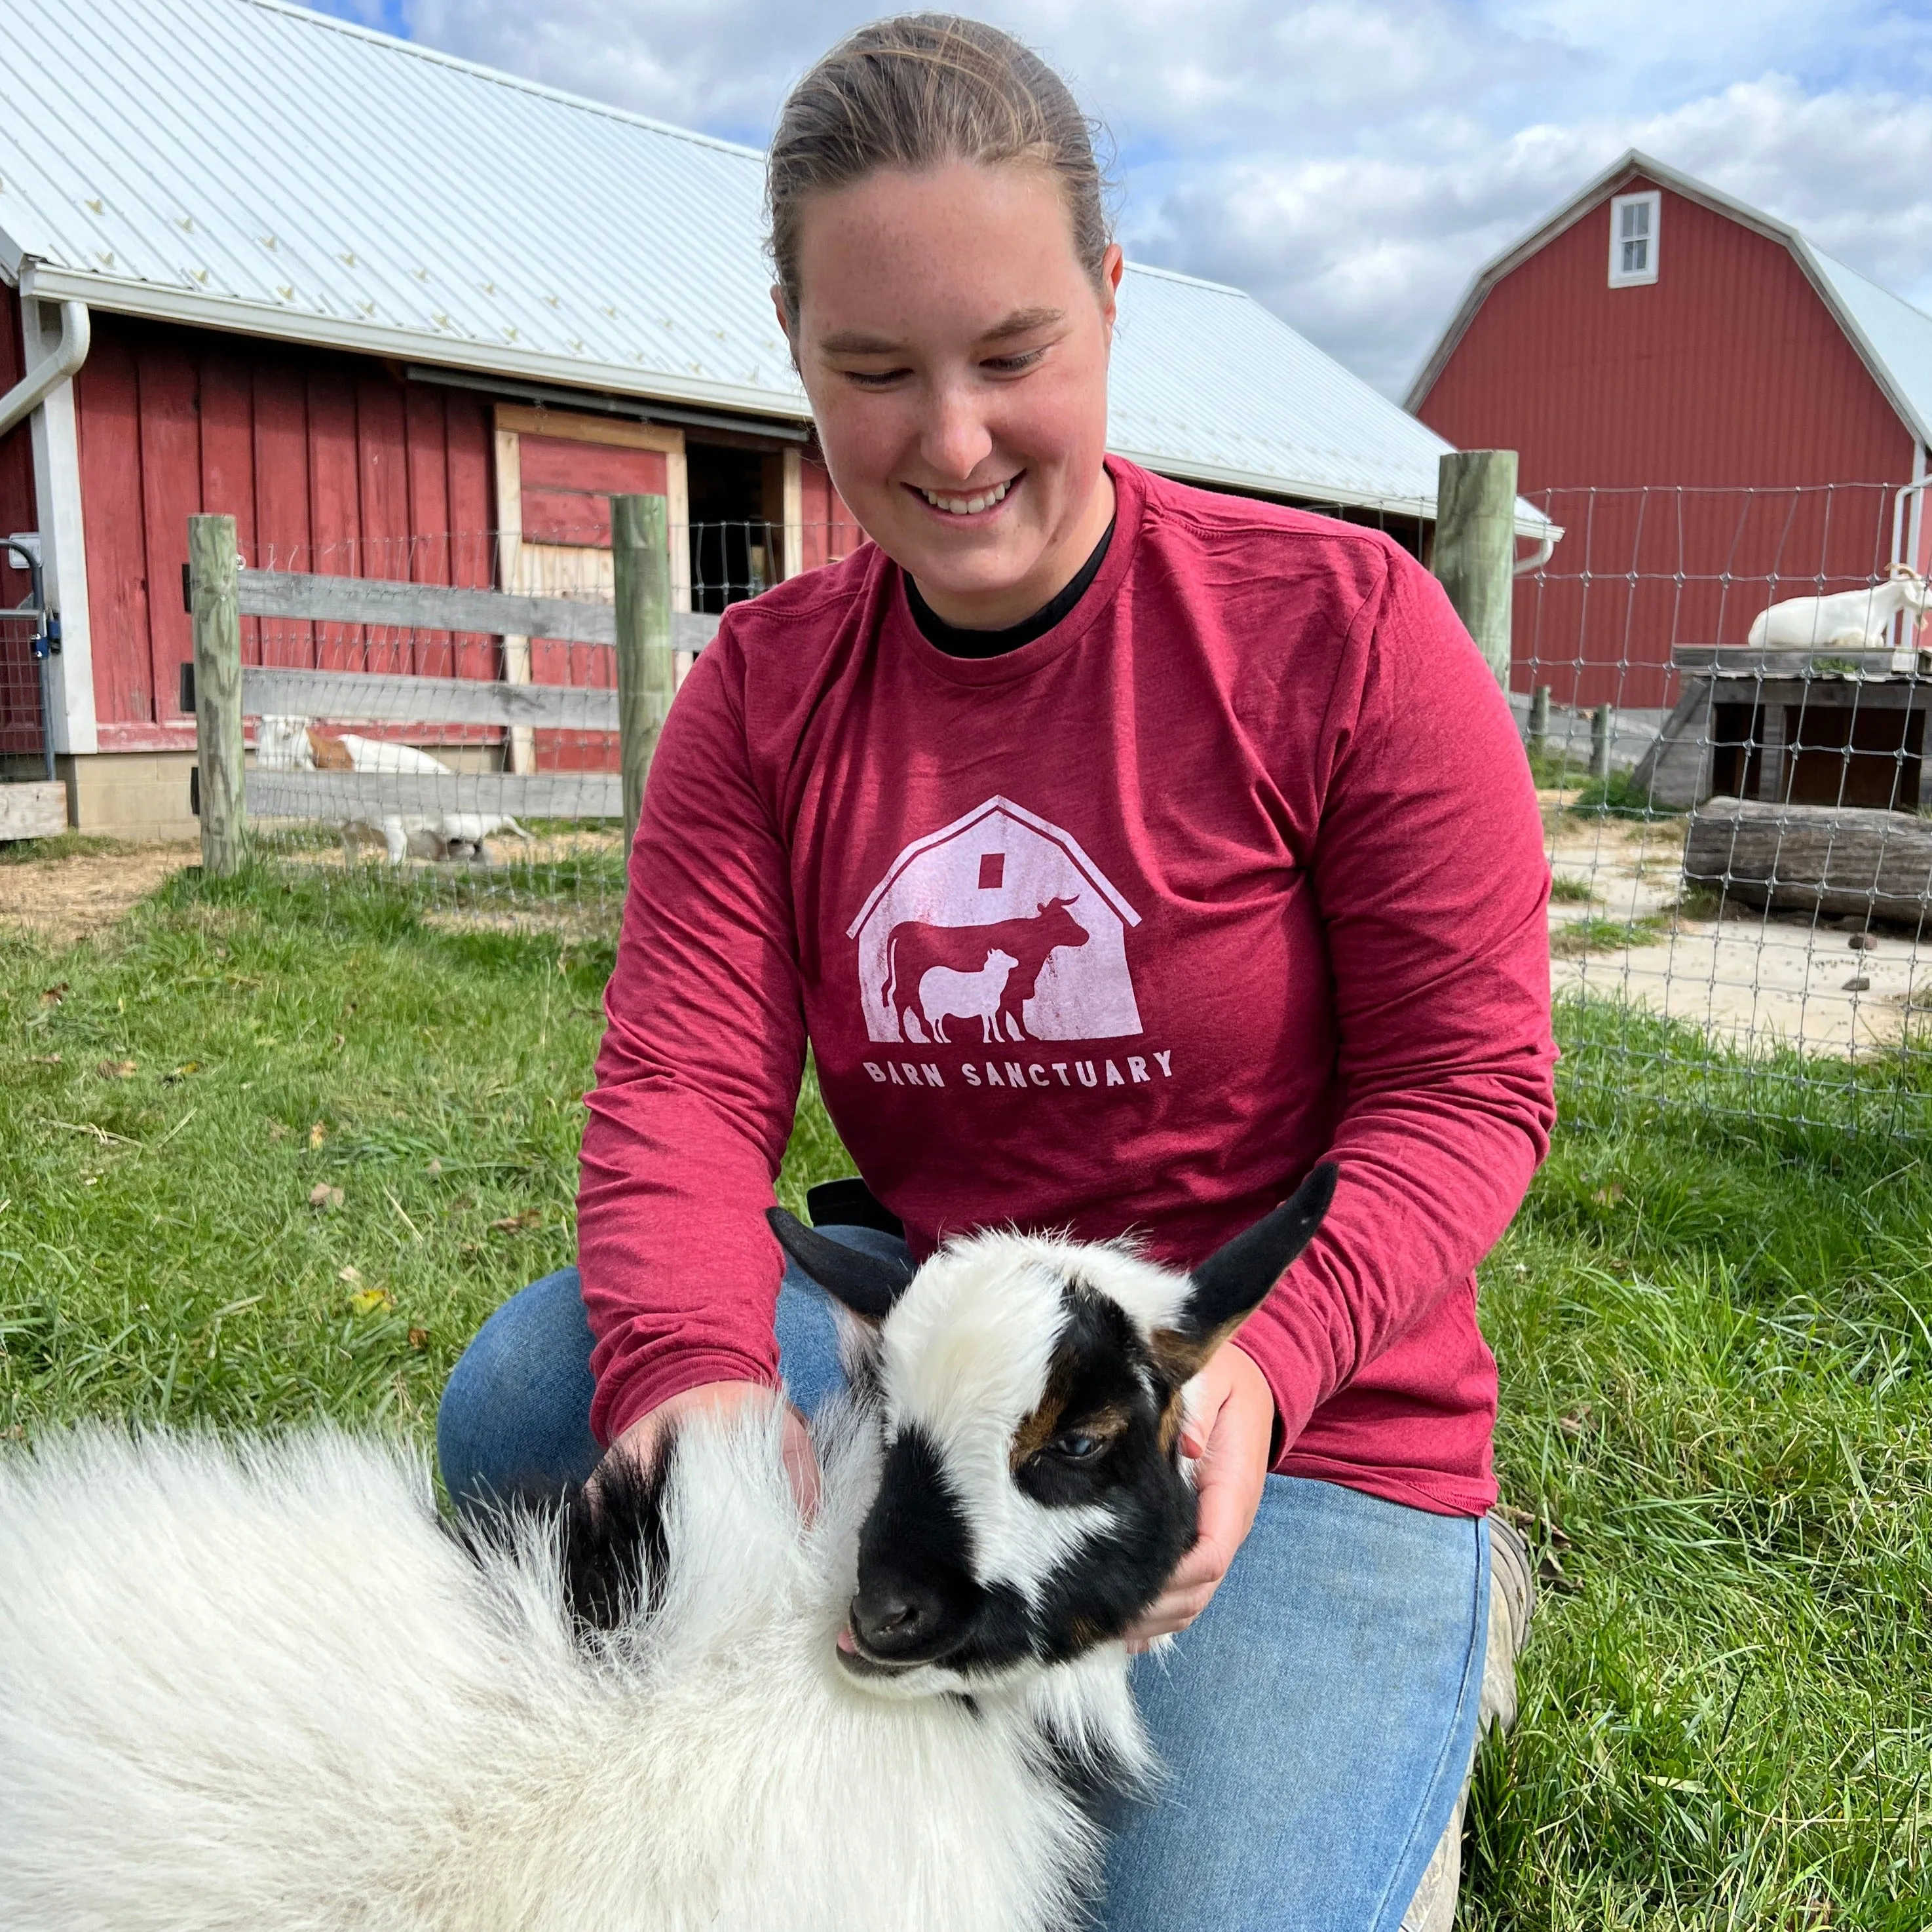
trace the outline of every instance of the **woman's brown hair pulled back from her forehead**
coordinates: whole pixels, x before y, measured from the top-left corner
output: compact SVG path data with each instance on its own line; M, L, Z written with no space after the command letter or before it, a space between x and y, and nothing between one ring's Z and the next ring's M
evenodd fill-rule
M840 41L792 89L765 166L771 261L798 319L798 226L811 195L881 168L1032 162L1061 185L1080 267L1099 286L1113 240L1090 122L1012 35L958 14L900 14Z

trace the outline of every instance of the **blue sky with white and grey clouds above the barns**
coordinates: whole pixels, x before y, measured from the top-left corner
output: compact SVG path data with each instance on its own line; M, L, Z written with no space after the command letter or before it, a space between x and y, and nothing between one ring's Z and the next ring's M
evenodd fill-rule
M875 8L325 0L763 145ZM1629 147L1932 309L1932 0L1028 0L974 6L1109 129L1136 261L1250 290L1401 398L1468 278ZM1667 245L1667 243L1665 243Z

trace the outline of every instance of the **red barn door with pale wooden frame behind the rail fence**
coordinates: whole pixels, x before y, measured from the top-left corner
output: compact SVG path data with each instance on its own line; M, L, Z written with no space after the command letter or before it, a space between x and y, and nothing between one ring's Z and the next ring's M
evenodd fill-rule
M690 611L684 431L568 410L497 408L497 568L506 591L535 597L616 593L611 497L663 497L670 524L670 607ZM553 638L504 638L510 684L611 686L611 651ZM611 769L609 744L562 732L510 734L510 769Z

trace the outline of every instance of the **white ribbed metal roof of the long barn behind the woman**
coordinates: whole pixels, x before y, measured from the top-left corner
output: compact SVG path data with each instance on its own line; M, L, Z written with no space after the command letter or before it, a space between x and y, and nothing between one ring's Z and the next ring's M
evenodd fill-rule
M0 0L0 272L37 296L808 415L755 149L282 0ZM1434 514L1447 444L1238 290L1130 269L1113 396L1169 475Z

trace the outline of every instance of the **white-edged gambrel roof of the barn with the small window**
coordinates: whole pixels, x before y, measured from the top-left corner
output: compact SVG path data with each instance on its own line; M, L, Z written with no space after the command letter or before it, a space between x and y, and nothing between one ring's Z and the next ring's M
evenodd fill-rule
M1909 301L1866 280L1857 269L1847 269L1822 249L1814 247L1789 222L1766 214L1745 201L1725 195L1721 189L1685 174L1679 168L1631 149L1594 182L1580 187L1553 214L1540 220L1526 236L1513 242L1501 255L1476 270L1468 288L1457 303L1449 327L1441 332L1435 348L1424 357L1414 383L1408 384L1406 406L1420 410L1435 379L1443 373L1455 346L1463 340L1468 325L1476 319L1484 298L1513 269L1528 261L1538 249L1548 247L1559 234L1580 222L1592 209L1602 207L1633 176L1658 182L1687 201L1698 201L1719 214L1754 228L1772 242L1791 249L1806 280L1818 290L1820 299L1832 311L1839 328L1859 352L1872 381L1886 392L1899 419L1920 440L1932 442L1932 315L1915 309Z

